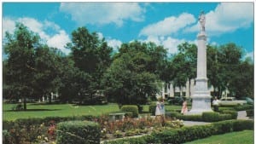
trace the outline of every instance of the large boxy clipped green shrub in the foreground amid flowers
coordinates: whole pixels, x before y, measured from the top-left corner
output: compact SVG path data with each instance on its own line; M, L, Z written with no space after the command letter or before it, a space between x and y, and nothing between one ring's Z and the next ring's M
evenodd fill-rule
M67 121L57 124L57 127L58 144L100 143L100 126L94 122Z

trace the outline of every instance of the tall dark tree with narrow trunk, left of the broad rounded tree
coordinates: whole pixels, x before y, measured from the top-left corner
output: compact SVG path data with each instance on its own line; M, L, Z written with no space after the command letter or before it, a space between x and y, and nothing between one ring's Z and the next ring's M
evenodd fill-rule
M99 39L96 32L90 33L85 27L73 31L72 36L72 43L67 43L67 48L72 50L74 66L91 78L84 90L93 95L97 89L102 89L102 76L110 66L112 48L104 39Z

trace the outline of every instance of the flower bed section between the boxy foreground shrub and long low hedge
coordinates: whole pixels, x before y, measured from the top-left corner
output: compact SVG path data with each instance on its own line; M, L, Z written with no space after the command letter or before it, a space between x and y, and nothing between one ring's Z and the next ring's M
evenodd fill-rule
M183 126L180 120L165 120L160 118L124 118L108 121L108 116L97 119L102 128L102 140L109 140L133 135L151 134L154 131L176 129Z

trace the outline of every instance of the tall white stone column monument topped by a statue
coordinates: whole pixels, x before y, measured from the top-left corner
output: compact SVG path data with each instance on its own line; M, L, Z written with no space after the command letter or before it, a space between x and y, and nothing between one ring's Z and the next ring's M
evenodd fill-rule
M201 114L212 112L211 95L207 86L207 34L206 15L202 11L199 16L201 30L197 35L197 69L195 78L195 93L192 95L192 108L186 114Z

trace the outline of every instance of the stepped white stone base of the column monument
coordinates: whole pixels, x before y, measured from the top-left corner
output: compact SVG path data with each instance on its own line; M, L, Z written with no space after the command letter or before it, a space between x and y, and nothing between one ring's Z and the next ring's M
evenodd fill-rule
M192 96L192 108L185 115L197 115L202 112L213 112L211 108L211 96L208 91L195 91Z

